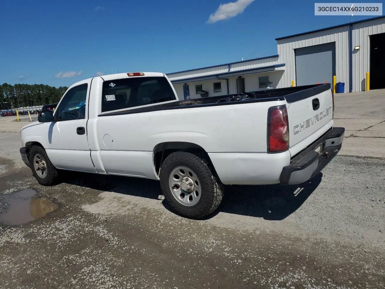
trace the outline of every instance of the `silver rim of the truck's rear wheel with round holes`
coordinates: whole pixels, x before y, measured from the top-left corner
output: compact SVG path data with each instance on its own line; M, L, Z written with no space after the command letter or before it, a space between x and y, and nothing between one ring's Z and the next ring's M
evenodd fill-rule
M172 196L182 205L192 207L201 199L201 182L193 170L177 166L169 176Z

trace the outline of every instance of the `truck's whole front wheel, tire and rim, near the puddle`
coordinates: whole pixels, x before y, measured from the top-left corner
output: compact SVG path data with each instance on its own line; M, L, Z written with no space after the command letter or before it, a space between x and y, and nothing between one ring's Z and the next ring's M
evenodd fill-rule
M33 176L40 185L54 185L59 177L59 173L49 160L47 153L41 146L32 146L29 151L29 162Z

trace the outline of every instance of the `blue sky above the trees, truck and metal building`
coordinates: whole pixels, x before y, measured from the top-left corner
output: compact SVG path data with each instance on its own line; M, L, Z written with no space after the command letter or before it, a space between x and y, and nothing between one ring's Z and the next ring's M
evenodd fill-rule
M98 72L169 73L263 57L277 54L276 37L350 22L315 16L308 0L239 0L226 14L219 5L231 1L1 1L0 83L59 87Z

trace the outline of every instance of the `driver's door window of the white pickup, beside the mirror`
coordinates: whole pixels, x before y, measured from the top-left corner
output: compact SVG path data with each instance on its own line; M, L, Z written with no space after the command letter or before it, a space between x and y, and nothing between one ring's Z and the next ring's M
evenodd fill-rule
M88 84L71 88L56 109L59 121L84 119Z

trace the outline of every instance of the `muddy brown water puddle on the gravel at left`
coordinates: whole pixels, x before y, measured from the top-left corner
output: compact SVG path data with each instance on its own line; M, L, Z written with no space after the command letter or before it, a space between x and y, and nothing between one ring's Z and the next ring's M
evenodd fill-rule
M57 205L47 198L35 198L34 190L22 190L12 195L0 196L1 203L9 206L0 212L0 223L21 225L44 217L57 209Z

